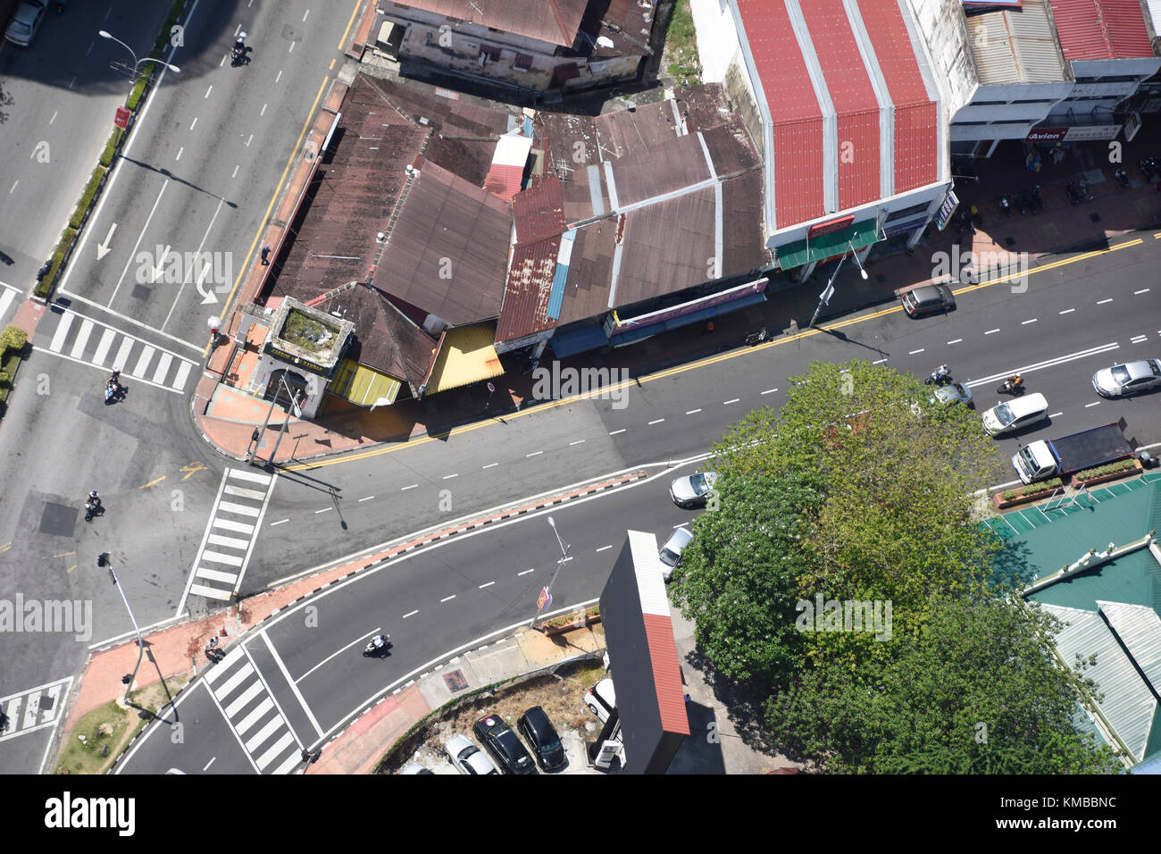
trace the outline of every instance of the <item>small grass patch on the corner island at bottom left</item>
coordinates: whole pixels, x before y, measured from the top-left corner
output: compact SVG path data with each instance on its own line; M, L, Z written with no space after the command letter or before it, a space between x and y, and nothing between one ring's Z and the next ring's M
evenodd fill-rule
M158 708L168 702L189 681L188 675L168 680L168 694L154 682L130 694L142 709L125 708L116 701L98 706L82 717L65 738L57 754L56 774L104 774L113 767L134 735L153 719ZM84 741L81 740L84 737Z

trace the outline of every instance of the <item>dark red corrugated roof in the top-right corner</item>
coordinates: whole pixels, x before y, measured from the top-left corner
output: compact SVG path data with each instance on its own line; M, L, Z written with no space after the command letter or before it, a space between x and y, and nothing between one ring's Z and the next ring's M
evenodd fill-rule
M1052 0L1052 15L1070 62L1153 56L1139 0Z

